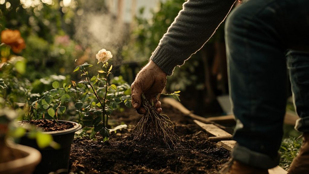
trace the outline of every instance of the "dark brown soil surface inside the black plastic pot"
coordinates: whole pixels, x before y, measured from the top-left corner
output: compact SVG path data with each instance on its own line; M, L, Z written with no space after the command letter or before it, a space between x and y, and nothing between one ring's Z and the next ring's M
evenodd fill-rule
M74 127L73 123L61 121L57 122L57 120L30 120L23 123L32 124L38 128L43 129L44 132L61 131Z

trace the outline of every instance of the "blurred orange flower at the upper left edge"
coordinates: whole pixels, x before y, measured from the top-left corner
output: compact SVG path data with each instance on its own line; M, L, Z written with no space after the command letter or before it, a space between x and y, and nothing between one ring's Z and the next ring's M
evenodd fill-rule
M11 46L15 53L19 53L26 48L25 40L20 36L18 30L3 30L1 32L1 42Z

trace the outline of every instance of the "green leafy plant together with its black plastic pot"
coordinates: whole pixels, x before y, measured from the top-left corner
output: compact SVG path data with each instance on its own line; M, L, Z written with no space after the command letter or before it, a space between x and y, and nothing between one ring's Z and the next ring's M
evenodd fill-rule
M42 161L34 173L67 173L74 133L82 128L78 123L59 120L70 99L67 94L70 85L60 88L59 82L55 81L52 86L54 89L44 92L38 100L25 104L26 121L19 122L23 127L30 124L43 131L39 141L31 138L32 132L26 133L19 141L19 144L36 148L42 154Z

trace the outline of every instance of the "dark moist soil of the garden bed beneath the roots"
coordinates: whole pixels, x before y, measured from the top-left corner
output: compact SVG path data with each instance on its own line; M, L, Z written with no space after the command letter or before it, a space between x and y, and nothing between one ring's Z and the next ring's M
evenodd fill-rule
M98 138L75 139L71 147L70 171L74 173L216 173L227 162L230 152L207 141L208 135L178 110L162 105L163 114L175 124L180 137L176 150L164 143L133 141L133 125L141 119L133 109L114 112L114 126L127 124L128 129L112 133L103 143Z

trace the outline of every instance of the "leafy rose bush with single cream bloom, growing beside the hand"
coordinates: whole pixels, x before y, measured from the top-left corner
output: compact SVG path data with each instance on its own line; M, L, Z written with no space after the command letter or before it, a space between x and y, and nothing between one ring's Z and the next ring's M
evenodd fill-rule
M103 142L108 141L110 136L108 118L112 112L119 108L120 103L124 103L126 107L132 107L130 85L119 77L110 77L112 64L109 64L108 60L111 58L110 51L99 50L96 54L97 64L103 65L95 76L90 76L88 72L88 68L93 65L84 63L77 66L73 72L79 70L85 79L77 83L72 81L73 88L69 89L76 94L74 95L76 96L74 97L75 107L80 123L84 127L80 134L90 131L90 138L94 138L99 133Z

